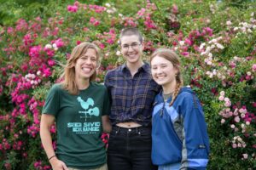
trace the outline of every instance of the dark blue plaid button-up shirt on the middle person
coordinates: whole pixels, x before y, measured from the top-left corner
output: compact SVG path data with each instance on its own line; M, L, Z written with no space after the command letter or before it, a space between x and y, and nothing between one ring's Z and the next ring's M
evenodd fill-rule
M105 86L111 94L112 124L119 122L137 122L143 126L151 123L154 96L159 93L160 86L154 82L148 63L144 64L134 77L126 65L108 71Z

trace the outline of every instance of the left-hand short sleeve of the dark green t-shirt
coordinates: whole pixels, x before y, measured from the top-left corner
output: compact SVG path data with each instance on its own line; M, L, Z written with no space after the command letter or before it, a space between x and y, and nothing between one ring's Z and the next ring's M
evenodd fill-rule
M60 108L60 86L54 85L49 89L44 102L43 114L56 116Z

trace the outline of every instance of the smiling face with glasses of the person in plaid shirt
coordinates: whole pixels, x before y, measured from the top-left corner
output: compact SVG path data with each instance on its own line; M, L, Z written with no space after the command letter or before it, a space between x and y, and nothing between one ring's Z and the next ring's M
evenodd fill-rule
M137 65L142 62L143 43L137 35L123 36L120 38L121 53L128 65Z

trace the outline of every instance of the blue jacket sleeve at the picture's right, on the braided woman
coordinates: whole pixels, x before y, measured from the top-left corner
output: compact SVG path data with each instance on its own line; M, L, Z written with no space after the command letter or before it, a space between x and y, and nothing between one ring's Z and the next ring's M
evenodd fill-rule
M206 169L209 154L207 123L195 94L183 99L182 168Z

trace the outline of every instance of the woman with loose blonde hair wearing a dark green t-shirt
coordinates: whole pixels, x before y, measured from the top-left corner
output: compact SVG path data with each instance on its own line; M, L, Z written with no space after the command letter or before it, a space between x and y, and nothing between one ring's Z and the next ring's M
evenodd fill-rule
M40 137L49 163L58 169L107 170L102 129L111 131L110 102L102 84L91 82L100 65L100 49L83 42L73 52L61 78L50 88L40 124ZM54 150L50 130L57 130Z

